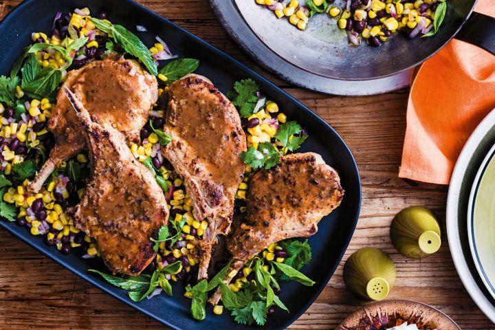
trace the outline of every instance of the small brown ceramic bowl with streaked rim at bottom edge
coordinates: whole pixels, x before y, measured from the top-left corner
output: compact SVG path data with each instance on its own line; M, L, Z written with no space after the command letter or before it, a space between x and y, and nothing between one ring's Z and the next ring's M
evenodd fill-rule
M410 300L384 300L348 316L336 330L386 330L407 322L420 330L461 330L438 309Z

